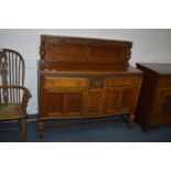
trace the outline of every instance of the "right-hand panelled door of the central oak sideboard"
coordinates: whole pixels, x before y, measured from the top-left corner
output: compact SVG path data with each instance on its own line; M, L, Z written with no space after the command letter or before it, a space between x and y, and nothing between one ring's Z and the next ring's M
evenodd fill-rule
M104 114L132 113L137 101L137 87L107 87L104 97Z

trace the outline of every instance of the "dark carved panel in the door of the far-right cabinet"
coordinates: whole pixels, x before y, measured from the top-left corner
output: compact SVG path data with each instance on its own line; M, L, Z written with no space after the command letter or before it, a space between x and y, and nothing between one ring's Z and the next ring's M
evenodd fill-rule
M169 115L171 113L171 96L164 98L160 115Z

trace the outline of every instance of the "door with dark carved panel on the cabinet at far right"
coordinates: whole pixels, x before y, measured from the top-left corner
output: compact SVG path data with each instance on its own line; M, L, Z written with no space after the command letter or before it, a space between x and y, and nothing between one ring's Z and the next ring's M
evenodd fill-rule
M154 117L159 120L171 119L171 89L161 88L158 93Z

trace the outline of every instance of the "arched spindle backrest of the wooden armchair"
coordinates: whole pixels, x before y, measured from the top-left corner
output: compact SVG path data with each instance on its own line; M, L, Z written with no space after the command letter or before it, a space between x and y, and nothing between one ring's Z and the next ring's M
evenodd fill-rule
M24 74L25 65L21 54L13 50L0 49L0 104L21 103L23 89L6 86L23 87Z

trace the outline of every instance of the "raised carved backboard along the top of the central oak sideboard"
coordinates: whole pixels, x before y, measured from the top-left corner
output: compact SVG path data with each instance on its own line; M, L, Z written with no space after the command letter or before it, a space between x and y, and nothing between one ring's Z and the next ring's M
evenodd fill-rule
M128 64L132 42L41 35L42 60L74 63Z

